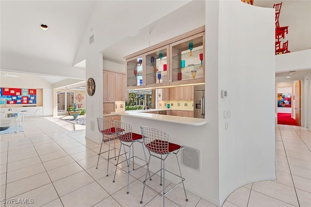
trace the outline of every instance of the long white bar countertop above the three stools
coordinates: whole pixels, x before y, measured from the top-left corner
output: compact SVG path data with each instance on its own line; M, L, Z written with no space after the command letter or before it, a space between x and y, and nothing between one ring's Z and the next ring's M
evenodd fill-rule
M142 110L142 111L148 112L151 110ZM162 110L153 110L153 111L162 111ZM155 114L155 113L143 113L143 112L137 112L137 110L133 110L131 112L122 112L122 113L112 112L111 114L116 114L116 115L121 115L121 116L132 116L132 117L137 117L137 118L152 119L152 120L157 120L157 121L172 122L172 123L192 125L192 126L202 126L202 125L207 124L207 121L205 119L182 117L182 116L170 116L170 115L162 115L162 114Z

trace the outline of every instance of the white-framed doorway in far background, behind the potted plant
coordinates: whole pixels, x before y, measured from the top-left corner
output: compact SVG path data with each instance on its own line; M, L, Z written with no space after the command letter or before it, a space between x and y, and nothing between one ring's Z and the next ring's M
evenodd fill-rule
M67 114L67 108L73 107L74 92L57 92L57 115Z

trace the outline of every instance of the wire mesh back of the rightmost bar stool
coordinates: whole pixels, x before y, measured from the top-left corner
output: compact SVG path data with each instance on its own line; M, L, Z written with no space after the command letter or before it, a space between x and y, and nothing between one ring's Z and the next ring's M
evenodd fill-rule
M157 154L168 154L169 151L169 134L151 127L140 127L141 135L144 138L146 148Z

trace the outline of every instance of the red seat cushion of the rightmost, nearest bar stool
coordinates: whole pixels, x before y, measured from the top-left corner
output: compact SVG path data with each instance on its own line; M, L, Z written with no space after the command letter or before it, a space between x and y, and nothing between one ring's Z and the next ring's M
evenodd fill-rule
M169 143L162 140L155 140L146 144L147 149L157 154L167 154L180 149L181 146L174 143Z

